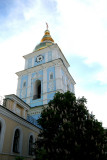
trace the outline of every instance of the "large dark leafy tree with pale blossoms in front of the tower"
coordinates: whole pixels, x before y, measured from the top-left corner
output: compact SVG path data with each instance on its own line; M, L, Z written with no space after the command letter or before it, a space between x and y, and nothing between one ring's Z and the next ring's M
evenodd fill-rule
M102 123L86 108L87 100L56 93L38 119L37 160L106 160Z

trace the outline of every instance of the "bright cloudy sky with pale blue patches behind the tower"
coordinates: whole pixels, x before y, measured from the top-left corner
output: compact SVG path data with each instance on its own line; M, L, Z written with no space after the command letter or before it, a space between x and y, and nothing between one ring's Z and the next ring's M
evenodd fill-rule
M107 128L107 0L0 0L0 96L16 94L15 73L46 22L70 64L76 97Z

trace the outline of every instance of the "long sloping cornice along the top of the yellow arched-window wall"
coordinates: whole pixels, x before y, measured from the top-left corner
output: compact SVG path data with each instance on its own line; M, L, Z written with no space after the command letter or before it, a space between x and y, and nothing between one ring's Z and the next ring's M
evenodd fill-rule
M4 115L5 117L8 117L9 119L16 121L17 123L39 133L40 129L36 126L34 126L33 124L31 124L30 122L28 122L27 120L19 117L18 115L16 115L15 113L9 111L8 109L1 107L0 106L0 114Z

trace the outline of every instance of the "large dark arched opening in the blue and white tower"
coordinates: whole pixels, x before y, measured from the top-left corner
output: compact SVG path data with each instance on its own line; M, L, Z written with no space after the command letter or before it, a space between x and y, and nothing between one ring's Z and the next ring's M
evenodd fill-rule
M34 83L33 100L41 98L41 81L36 80Z

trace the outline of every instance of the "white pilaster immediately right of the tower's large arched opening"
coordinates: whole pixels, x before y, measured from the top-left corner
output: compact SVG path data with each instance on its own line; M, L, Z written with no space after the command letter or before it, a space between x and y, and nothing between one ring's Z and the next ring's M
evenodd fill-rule
M47 68L43 69L43 104L47 104Z

